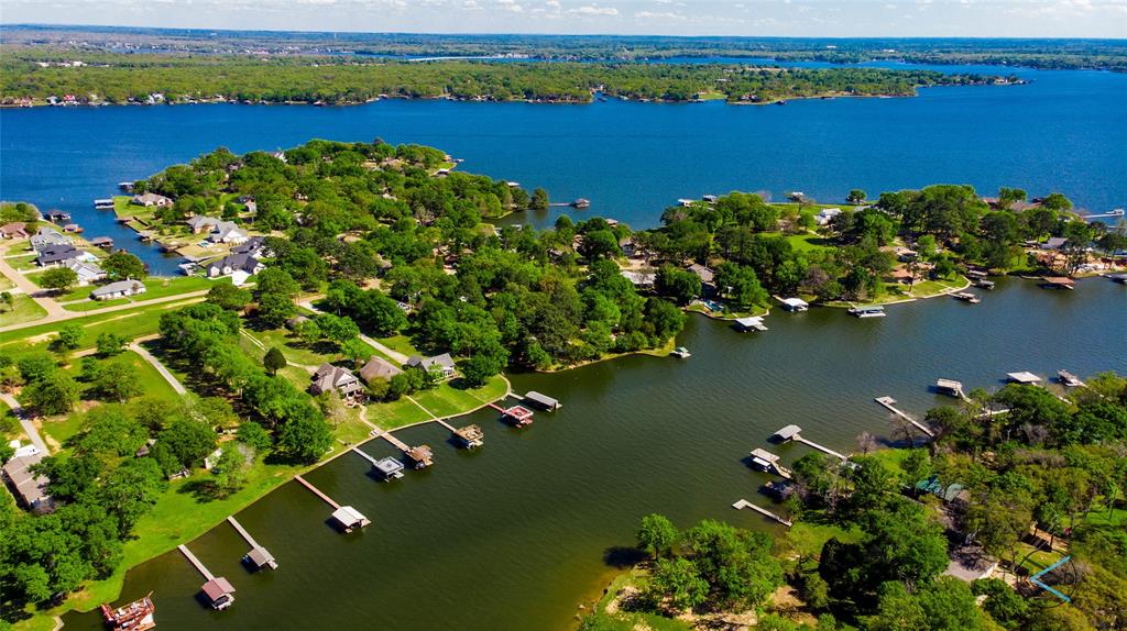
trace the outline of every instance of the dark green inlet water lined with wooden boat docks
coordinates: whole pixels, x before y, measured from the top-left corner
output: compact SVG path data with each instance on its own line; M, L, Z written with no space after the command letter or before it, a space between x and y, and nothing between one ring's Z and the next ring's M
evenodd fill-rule
M775 526L730 506L756 493L764 475L743 459L783 425L850 451L863 431L888 436L889 395L921 415L952 399L932 394L939 377L968 389L1000 388L1006 372L1042 377L1127 372L1127 289L1104 279L1075 291L1002 280L980 305L941 297L857 319L840 309L775 310L770 331L740 334L692 316L678 339L689 360L629 357L558 375L515 376L516 391L564 402L531 427L472 415L486 445L464 452L438 425L406 430L436 449L435 466L393 484L367 476L345 454L307 476L372 520L338 534L329 508L291 483L238 515L278 560L248 574L246 544L228 524L190 543L238 589L223 612L202 605L203 580L178 552L132 570L123 601L154 593L162 631L190 629L553 630L574 624L578 605L613 576L616 547L632 543L646 513L686 526L704 517L743 528ZM1056 387L1056 386L1053 386ZM364 449L393 454L383 441ZM784 462L807 453L771 447ZM97 614L68 615L68 629L100 629Z

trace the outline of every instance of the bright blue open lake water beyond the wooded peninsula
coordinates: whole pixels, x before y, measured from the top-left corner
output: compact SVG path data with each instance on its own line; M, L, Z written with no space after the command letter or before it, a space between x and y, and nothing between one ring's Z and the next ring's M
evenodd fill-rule
M795 65L825 65L798 63ZM584 216L656 224L680 197L733 189L801 190L842 199L935 182L993 192L1059 190L1093 211L1127 204L1127 75L991 66L1026 85L932 88L917 98L791 101L787 106L589 106L381 101L357 107L176 106L0 111L0 198L71 211L88 236L126 244L154 272L176 260L136 243L91 200L122 180L227 146L275 150L310 137L420 143L461 169L586 197ZM554 216L518 217L543 224Z

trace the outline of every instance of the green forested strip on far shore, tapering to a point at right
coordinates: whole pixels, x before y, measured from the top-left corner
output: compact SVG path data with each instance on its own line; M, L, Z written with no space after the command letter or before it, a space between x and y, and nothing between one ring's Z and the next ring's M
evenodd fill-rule
M86 65L60 66L63 61ZM47 64L44 67L41 64ZM77 102L361 103L381 97L591 102L627 99L773 102L831 96L913 96L921 87L1013 82L920 70L779 69L719 64L403 62L357 57L123 55L6 49L0 100ZM151 94L161 94L151 101Z

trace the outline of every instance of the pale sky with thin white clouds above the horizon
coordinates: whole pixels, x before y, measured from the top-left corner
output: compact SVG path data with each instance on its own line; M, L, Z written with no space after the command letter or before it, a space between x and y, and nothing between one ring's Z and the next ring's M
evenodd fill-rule
M1127 0L2 0L0 24L373 33L1127 38Z

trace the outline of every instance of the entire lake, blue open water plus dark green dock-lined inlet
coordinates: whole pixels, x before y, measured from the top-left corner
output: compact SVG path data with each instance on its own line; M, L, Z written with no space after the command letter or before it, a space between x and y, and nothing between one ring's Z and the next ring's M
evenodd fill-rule
M949 72L1011 69L938 66ZM777 199L802 190L824 201L881 190L966 182L980 191L1061 190L1106 210L1127 200L1127 75L1015 70L1027 85L935 88L915 99L793 101L784 107L591 106L382 101L361 107L177 106L0 111L0 197L71 210L87 235L109 234L154 270L175 260L143 249L90 200L121 180L214 148L269 150L310 137L421 143L465 160L461 169L544 187L556 200L635 227L654 226L680 197L731 189ZM554 213L515 217L550 223ZM336 625L526 630L567 628L615 571L605 557L630 546L638 520L668 514L681 526L722 519L773 530L735 512L766 477L743 459L783 425L832 449L854 449L891 425L873 397L922 415L951 399L937 378L996 389L1006 372L1127 372L1124 288L1103 279L1046 291L1003 279L977 306L935 298L854 319L837 309L775 313L770 331L738 334L692 316L678 343L689 360L630 357L559 375L515 376L565 407L515 431L482 412L474 453L440 427L402 432L436 448L436 465L385 485L346 454L308 476L373 520L340 535L329 511L296 484L239 514L281 565L247 574L245 543L221 524L192 549L231 579L238 602L216 613L195 600L203 580L170 552L132 570L124 600L154 592L162 630ZM383 443L364 448L391 454ZM772 448L784 463L801 445ZM69 629L100 629L96 614Z

